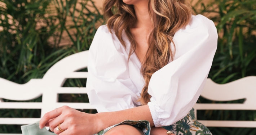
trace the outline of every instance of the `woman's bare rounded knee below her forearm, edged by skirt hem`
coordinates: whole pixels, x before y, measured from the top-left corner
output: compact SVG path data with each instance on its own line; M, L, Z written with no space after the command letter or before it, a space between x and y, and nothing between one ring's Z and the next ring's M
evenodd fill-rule
M123 124L113 127L104 135L144 135L144 133L137 127Z

